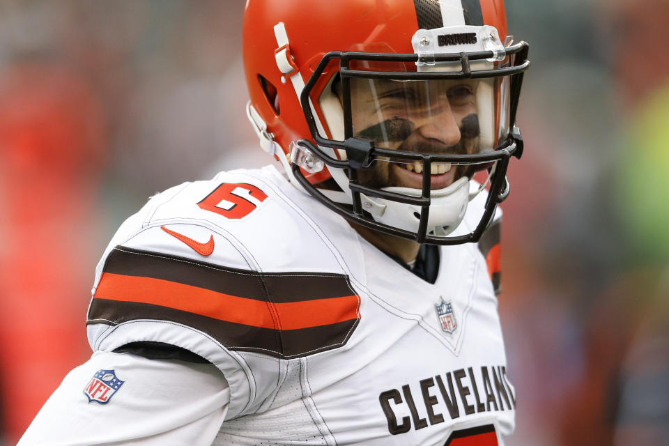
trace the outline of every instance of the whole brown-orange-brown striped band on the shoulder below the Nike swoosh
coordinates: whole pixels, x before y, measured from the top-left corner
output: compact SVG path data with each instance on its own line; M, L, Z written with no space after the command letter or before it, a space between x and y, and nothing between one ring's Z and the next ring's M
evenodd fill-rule
M95 290L89 323L181 323L227 348L295 357L346 343L359 308L346 275L263 274L116 247Z

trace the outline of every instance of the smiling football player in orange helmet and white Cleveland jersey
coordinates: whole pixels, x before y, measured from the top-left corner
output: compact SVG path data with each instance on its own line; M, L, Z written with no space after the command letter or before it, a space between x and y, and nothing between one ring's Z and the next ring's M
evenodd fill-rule
M20 445L501 445L528 68L502 0L249 0L243 42L283 174L178 185L121 226L95 353Z

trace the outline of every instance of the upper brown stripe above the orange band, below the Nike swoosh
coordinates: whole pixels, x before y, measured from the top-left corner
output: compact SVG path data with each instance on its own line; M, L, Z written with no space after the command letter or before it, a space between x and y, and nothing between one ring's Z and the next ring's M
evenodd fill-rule
M345 275L309 272L260 274L128 247L116 247L109 254L104 272L153 277L262 301L269 293L275 303L353 294Z

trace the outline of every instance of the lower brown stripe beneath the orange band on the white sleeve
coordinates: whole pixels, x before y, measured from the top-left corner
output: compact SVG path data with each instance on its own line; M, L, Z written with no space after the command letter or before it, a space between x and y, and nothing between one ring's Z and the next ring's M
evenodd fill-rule
M348 341L359 319L299 330L271 330L183 312L160 305L93 299L89 323L152 319L179 323L210 335L233 351L254 351L289 359L337 348Z

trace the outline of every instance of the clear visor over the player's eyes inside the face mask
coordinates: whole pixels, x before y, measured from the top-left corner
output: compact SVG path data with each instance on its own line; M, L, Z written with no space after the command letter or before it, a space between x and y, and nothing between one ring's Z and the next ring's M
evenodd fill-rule
M509 79L351 78L353 136L440 155L494 151L509 132Z

